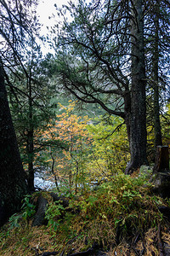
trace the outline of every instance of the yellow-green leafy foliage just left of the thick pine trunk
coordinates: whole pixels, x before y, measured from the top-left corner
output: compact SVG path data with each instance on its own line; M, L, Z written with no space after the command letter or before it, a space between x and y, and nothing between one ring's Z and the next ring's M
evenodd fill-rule
M125 170L129 160L126 127L122 119L111 117L109 122L98 119L98 125L88 125L93 138L91 154L88 155L88 172L98 182Z

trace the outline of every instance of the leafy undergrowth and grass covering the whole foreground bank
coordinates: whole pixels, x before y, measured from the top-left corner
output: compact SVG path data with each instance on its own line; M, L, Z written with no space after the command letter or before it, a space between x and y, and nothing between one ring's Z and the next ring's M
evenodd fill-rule
M67 255L85 251L94 242L109 250L108 255L159 255L160 224L161 239L170 244L167 220L158 208L166 206L166 201L152 195L150 188L144 176L119 174L83 195L72 195L68 208L59 201L50 202L48 225L41 227L31 227L35 211L26 199L25 212L14 215L1 229L0 255L47 251Z

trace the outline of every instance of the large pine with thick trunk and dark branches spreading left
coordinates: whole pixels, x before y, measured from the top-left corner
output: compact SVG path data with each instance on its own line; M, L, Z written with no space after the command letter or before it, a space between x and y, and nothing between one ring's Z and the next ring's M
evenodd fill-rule
M156 56L158 38L153 31L160 37L166 33L162 44L159 40L161 55L166 55L169 35L162 26L157 28L155 17L159 12L160 24L166 22L168 26L167 10L166 1L78 1L59 9L59 15L64 17L63 30L60 32L59 27L55 47L59 83L79 101L98 103L107 113L124 119L131 152L127 172L147 163L146 88L151 80L158 84L156 78L161 73L161 69L157 69L161 61L161 57ZM71 21L66 19L67 12ZM149 49L149 44L153 50ZM163 72L165 77L166 72ZM151 88L155 91L154 117L158 136L161 134L157 122L158 85Z

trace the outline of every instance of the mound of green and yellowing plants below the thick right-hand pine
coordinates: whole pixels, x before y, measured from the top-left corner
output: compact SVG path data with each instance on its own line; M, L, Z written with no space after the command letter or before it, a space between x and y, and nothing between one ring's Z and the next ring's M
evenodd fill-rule
M108 246L116 242L117 232L123 239L157 227L163 222L158 207L164 202L151 195L147 177L145 172L136 177L119 172L110 182L72 196L69 207L73 212L66 212L59 202L51 204L46 214L53 236L65 243L76 236L77 246L85 249L84 237L88 238L88 247L94 241Z

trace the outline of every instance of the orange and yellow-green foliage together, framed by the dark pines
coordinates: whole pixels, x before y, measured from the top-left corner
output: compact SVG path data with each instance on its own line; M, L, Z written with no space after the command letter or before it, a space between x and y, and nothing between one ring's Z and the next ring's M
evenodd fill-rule
M42 140L43 143L49 139L60 140L68 145L67 148L47 148L43 153L47 163L53 166L51 177L59 181L60 192L65 193L65 188L70 189L70 193L71 190L83 192L125 169L130 154L122 119L97 118L92 122L87 116L76 114L76 102L59 106L54 125L48 125L42 132Z

